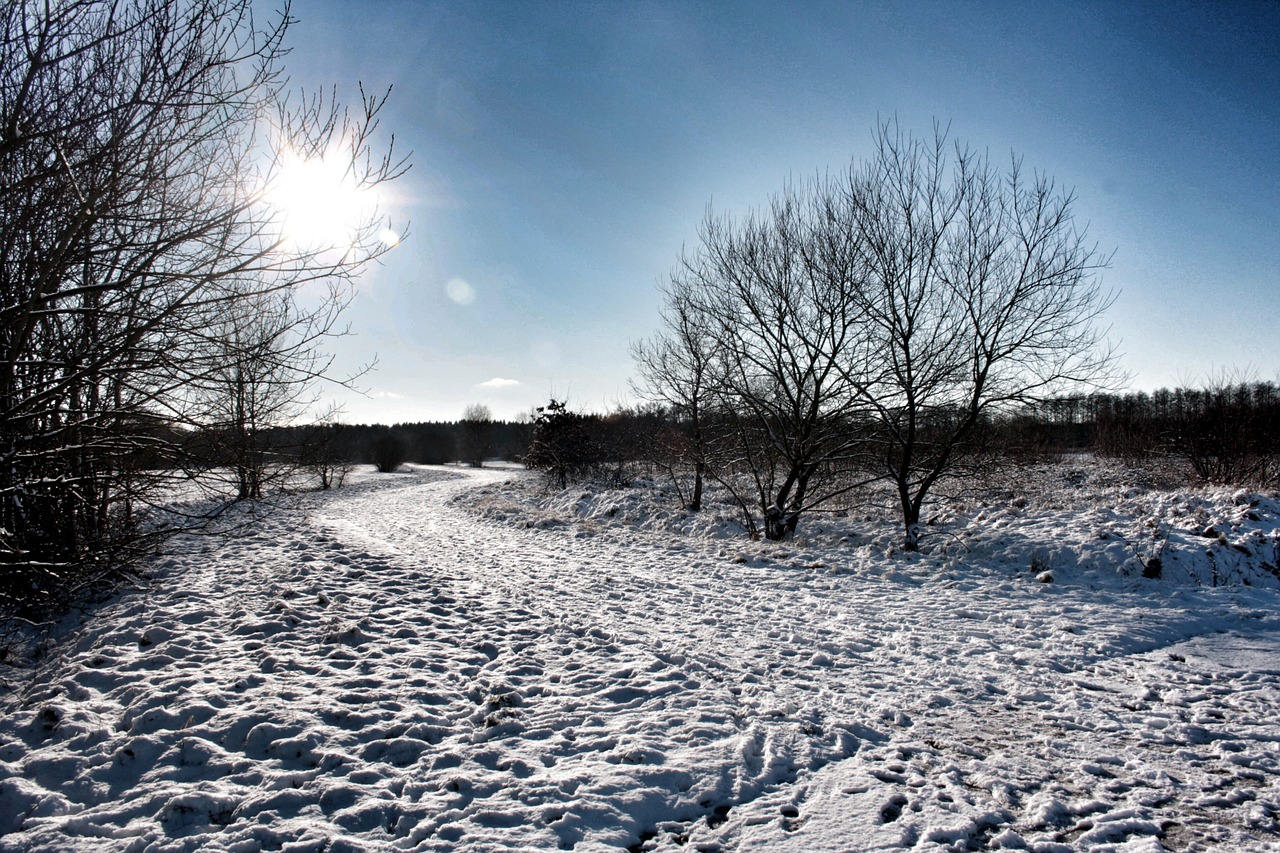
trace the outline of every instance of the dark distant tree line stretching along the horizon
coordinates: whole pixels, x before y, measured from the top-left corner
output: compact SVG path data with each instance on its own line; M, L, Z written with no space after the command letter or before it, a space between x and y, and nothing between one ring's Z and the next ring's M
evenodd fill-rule
M963 412L934 412L922 420L919 441L954 428ZM467 416L470 415L470 416ZM620 406L609 412L572 409L550 400L529 420L489 420L468 407L457 421L320 424L264 433L276 465L292 470L335 460L346 466L396 470L421 465L480 465L485 460L522 464L564 488L584 480L626 485L640 475L669 475L682 500L698 510L699 461L732 466L741 415L708 407L695 421L681 407L662 403ZM778 424L782 428L782 424ZM877 429L873 419L828 419L832 441L856 443ZM168 441L178 441L173 435ZM225 464L210 433L182 438L210 466ZM992 464L1021 464L1068 453L1096 453L1130 465L1171 462L1188 482L1276 484L1280 478L1280 387L1271 382L1216 383L1203 388L1092 393L1051 397L980 418L957 447L957 471ZM831 474L831 471L828 471ZM865 485L873 478L855 476Z

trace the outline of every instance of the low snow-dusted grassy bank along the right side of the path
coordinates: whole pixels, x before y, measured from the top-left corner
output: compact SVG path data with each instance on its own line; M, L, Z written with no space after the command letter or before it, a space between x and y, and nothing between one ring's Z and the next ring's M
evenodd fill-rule
M628 488L594 483L548 492L525 475L462 498L476 512L516 526L567 528L571 535L655 535L722 539L742 561L844 566L900 573L904 567L1030 573L1042 581L1139 588L1142 579L1172 585L1280 589L1280 498L1240 489L1165 491L1140 474L1091 459L1014 469L1012 483L987 483L927 506L920 555L899 552L901 532L891 501L803 517L791 542L750 543L740 511L709 487L707 508L690 512L669 484L640 479ZM1125 583L1133 581L1133 583Z

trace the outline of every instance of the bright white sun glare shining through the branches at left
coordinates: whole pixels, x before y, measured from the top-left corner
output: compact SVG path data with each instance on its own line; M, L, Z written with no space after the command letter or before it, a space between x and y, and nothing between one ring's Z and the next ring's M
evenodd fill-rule
M343 248L376 209L372 192L360 187L339 158L288 156L266 191L279 211L283 237L306 248ZM380 234L387 242L389 232Z

